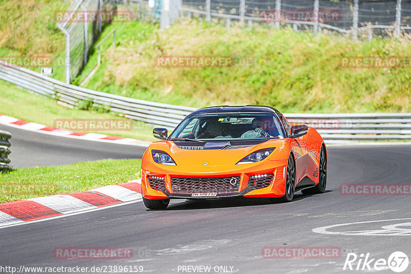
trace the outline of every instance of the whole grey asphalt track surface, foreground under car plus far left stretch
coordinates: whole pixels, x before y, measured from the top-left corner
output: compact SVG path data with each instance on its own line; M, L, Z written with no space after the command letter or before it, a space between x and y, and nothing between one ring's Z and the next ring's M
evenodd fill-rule
M21 139L16 136L15 129L10 131L14 136L12 153L16 158L23 153L18 146L30 143L31 150L27 150L30 156L49 146L53 153L42 156L45 164L55 164L55 159L60 159L60 163L72 162L76 156L83 161L133 155L127 148L111 154L117 147L79 145L77 140L65 140L64 146L50 145L48 141L54 137L39 138L27 132ZM102 147L105 149L100 150ZM84 149L88 149L87 154ZM134 156L138 155L136 152ZM378 259L388 260L394 251L402 251L410 257L409 195L342 195L339 186L347 183L409 184L410 159L410 145L330 146L327 192L319 195L298 192L290 203L271 204L267 199L172 200L166 210L152 211L137 202L5 227L0 229L1 265L17 268L127 265L143 266L146 273L183 273L183 269L192 270L189 266L211 266L210 273L215 270L236 273L371 272L366 266L365 270L343 270L347 253L354 252L358 257L361 253L364 257L369 253L369 260L374 259L370 267ZM22 163L24 165L29 163ZM320 228L354 222L368 223ZM261 250L267 246L338 247L341 256L264 259ZM58 247L131 247L134 255L126 260L62 260L53 257L53 249ZM358 261L352 263L354 269ZM361 269L363 264L359 267ZM387 265L382 269L378 272L395 273ZM411 266L403 273L410 271Z

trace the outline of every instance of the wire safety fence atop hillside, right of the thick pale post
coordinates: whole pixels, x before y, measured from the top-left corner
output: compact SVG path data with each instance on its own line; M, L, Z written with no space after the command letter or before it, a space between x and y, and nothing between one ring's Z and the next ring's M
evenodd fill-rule
M291 24L294 30L322 29L372 39L373 34L400 35L411 30L411 2L408 0L182 0L185 15L198 14L230 22Z

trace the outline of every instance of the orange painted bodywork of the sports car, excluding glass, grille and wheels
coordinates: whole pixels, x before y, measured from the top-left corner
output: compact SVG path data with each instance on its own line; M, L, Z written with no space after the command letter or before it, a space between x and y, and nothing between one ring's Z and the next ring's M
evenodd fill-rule
M295 183L308 180L310 186L319 182L318 173L320 150L324 141L312 127L308 133L297 138L271 139L264 143L237 149L188 150L179 148L173 141L158 141L152 143L145 151L141 165L141 187L146 199L170 198L165 193L155 190L148 183L148 176L163 177L165 188L173 194L172 177L230 177L239 176L238 194L244 191L249 177L259 174L274 174L274 179L268 187L242 193L244 197L283 197L286 185L286 166L290 153L295 158ZM249 164L236 165L248 154L264 148L275 147L266 159ZM176 166L162 165L154 162L152 150L162 150L175 161ZM204 165L204 163L208 163ZM303 180L304 179L304 180Z

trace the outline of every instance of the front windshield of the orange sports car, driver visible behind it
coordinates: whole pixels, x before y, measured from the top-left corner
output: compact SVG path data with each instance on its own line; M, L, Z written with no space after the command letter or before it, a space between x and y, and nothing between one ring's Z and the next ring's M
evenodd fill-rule
M191 114L170 135L170 139L203 141L284 138L274 113Z

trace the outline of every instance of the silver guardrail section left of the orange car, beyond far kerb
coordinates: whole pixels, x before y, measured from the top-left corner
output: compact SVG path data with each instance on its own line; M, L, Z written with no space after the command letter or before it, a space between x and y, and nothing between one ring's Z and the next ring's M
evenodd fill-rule
M51 96L59 104L69 108L77 107L82 100L91 101L93 106L109 109L119 116L166 128L174 128L187 114L195 110L191 107L132 99L66 84L3 61L0 61L0 79Z

